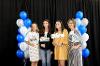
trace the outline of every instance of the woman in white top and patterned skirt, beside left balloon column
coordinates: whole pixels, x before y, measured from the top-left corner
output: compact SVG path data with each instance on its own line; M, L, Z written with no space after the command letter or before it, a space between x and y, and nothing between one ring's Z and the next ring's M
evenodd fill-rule
M29 57L31 66L37 66L39 61L39 29L36 23L31 26L31 31L25 37L26 43L29 45Z

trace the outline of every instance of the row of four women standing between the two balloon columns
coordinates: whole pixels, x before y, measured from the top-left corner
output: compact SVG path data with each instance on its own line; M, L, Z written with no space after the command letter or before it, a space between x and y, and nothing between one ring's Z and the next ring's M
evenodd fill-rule
M74 19L68 20L67 24L71 29L69 33L61 20L56 21L53 34L63 34L63 37L53 39L48 19L43 21L40 31L36 23L32 24L31 31L25 37L25 42L29 45L31 66L38 66L39 60L42 60L42 66L51 66L51 54L53 53L54 60L58 60L58 66L65 66L66 60L68 60L68 66L82 66L80 33L75 29Z

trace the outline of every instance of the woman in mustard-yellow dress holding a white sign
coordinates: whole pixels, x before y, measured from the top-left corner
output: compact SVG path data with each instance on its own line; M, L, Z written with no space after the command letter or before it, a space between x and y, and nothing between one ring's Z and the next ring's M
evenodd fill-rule
M68 55L68 32L61 20L56 21L53 36L54 59L58 60L58 66L65 66Z

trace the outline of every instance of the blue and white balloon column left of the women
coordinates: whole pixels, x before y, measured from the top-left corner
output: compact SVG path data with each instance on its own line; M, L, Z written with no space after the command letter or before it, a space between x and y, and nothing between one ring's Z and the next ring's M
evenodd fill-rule
M27 18L27 13L25 11L21 11L19 13L19 19L17 19L16 24L18 26L18 35L16 37L18 41L19 49L16 51L16 55L18 58L28 58L28 44L24 42L24 38L26 34L31 30L30 26L32 21Z

